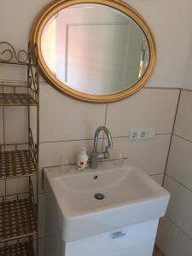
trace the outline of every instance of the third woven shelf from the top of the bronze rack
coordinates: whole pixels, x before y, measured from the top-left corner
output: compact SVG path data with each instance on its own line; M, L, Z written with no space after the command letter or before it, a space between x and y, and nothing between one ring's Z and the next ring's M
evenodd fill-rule
M0 201L0 242L34 235L37 232L37 205L32 182L26 195L3 196Z

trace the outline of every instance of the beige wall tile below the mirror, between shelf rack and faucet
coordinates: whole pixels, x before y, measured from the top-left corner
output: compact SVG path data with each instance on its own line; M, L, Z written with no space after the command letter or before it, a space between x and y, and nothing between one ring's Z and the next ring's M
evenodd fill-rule
M93 138L96 128L104 125L105 115L105 104L79 102L48 84L41 86L41 142Z

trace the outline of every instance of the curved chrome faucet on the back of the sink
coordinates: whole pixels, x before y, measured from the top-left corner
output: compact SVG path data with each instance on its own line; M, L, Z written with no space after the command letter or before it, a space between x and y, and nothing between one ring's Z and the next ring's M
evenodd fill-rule
M108 146L105 147L105 152L97 152L97 143L99 139L99 133L100 131L104 131L108 137ZM91 169L96 169L98 161L99 160L104 160L104 159L109 159L109 153L108 153L108 148L113 147L113 140L111 133L108 131L108 128L105 126L100 126L96 129L95 137L94 137L94 145L93 145L93 150L90 154L90 168Z

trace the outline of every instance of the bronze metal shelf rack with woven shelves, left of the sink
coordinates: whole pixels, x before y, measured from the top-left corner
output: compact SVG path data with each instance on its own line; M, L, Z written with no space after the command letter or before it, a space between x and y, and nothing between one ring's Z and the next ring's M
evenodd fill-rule
M22 79L26 82L0 82L0 108L3 115L0 142L0 255L33 256L38 255L39 79L36 49L29 44L28 51L20 50L17 53L11 44L0 42L1 71L5 70L4 68L6 73L10 70L10 74L19 68L26 74ZM20 129L27 130L26 140L11 143L11 139L16 138L17 134L13 134L12 138L6 137L11 128L5 125L5 120L10 118L6 113L13 111L13 108L20 111L20 108L24 107L27 124L25 128ZM35 125L32 124L34 114ZM19 183L18 193L13 195L10 186L12 181L18 178L21 183L26 182L26 189L25 192L24 189L20 191Z

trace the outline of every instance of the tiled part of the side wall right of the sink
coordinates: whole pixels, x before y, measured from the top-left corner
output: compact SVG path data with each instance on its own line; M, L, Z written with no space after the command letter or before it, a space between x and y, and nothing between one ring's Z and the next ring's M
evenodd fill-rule
M164 186L171 192L157 244L166 256L192 255L192 91L182 90Z

